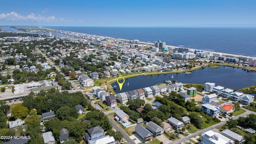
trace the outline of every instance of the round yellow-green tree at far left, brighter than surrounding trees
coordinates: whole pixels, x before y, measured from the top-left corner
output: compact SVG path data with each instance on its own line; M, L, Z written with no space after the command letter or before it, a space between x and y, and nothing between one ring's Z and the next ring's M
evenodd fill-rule
M25 106L22 106L21 104L18 104L14 108L12 108L12 115L15 119L20 118L24 119L28 115L28 108Z

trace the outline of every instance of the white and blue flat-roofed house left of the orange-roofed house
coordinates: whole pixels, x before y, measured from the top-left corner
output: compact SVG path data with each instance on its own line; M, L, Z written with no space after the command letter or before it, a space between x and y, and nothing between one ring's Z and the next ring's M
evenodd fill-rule
M205 114L214 117L220 114L220 108L206 103L201 105L201 112L204 112Z

